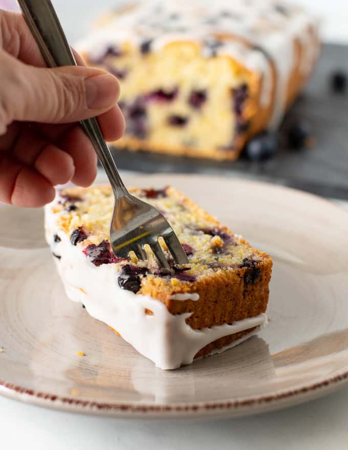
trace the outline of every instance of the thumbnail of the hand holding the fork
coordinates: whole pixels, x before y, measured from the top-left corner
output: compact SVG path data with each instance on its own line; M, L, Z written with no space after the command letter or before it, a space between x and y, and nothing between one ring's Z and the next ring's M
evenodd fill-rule
M113 75L103 74L86 78L84 85L89 109L111 107L118 100L119 84Z

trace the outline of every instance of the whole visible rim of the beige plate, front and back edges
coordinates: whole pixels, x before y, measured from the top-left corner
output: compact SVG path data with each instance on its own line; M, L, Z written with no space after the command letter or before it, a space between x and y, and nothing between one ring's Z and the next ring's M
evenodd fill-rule
M139 176L140 175L140 176ZM139 174L127 173L128 177L146 177L149 179L162 178L165 176L171 177L187 177L185 173L157 173L157 174ZM244 183L248 185L264 186L267 189L286 191L301 197L311 197L316 201L323 202L326 206L336 209L341 214L346 215L348 219L348 212L335 204L331 199L320 197L316 194L307 191L301 191L292 187L277 185L264 181L257 181L245 177L234 177L222 175L209 174L190 174L191 178L209 178L228 179L230 182ZM98 183L96 183L98 184ZM99 182L99 184L101 184ZM0 204L1 206L1 204ZM251 398L241 400L221 400L221 401L207 401L198 403L178 403L175 405L169 404L146 404L135 402L99 402L91 399L76 398L74 396L59 396L29 389L24 386L12 384L10 381L0 379L0 395L15 399L17 401L24 401L27 403L50 408L54 410L74 412L77 414L90 414L95 416L111 416L116 418L153 418L153 419L170 419L170 418L218 418L218 417L241 417L246 415L258 414L263 412L270 412L287 407L295 406L309 400L324 396L348 384L348 367L341 369L341 373L330 378L322 379L316 383L302 386L296 389L282 389L274 394L259 395Z

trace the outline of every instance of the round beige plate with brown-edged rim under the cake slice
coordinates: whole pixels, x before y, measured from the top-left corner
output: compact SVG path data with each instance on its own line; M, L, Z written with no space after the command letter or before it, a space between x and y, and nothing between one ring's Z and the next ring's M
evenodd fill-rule
M344 383L347 213L309 194L249 181L126 181L172 184L271 254L268 328L191 366L156 369L67 299L44 241L42 211L0 206L0 393L116 417L216 417L290 406Z

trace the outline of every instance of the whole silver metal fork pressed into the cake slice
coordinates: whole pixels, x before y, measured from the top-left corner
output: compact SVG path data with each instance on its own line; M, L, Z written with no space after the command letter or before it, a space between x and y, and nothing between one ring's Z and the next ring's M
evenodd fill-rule
M77 65L51 1L18 0L18 4L47 64L50 67ZM158 241L162 236L173 260L177 264L188 263L187 255L165 217L125 188L97 119L83 120L81 126L90 138L114 192L110 241L115 255L126 258L133 251L138 259L145 260L144 245L148 244L160 266L168 271L170 266Z

